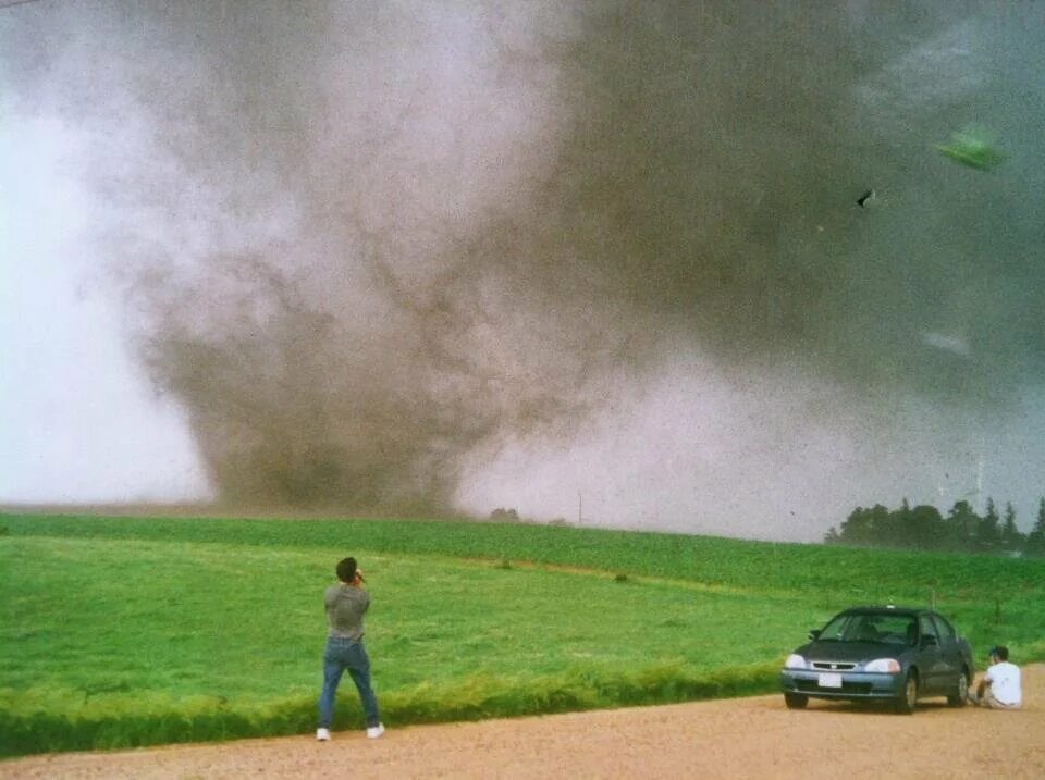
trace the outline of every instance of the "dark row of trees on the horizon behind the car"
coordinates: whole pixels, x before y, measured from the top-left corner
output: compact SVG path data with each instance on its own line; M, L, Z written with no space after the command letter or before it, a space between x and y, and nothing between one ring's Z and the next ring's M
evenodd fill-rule
M825 544L861 547L988 553L994 555L1045 556L1045 498L1037 508L1037 520L1030 533L1016 525L1016 510L1005 505L998 515L994 499L988 498L983 515L969 502L957 502L944 517L934 506L911 507L903 499L899 509L881 504L870 509L857 507L840 528L832 525Z

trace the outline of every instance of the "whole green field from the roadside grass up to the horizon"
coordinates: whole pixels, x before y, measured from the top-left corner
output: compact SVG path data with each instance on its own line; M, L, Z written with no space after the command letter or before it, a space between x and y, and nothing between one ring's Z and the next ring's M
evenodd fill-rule
M0 516L0 755L315 728L355 555L390 726L771 692L855 603L1045 658L1045 561L464 521ZM335 728L361 727L346 680Z

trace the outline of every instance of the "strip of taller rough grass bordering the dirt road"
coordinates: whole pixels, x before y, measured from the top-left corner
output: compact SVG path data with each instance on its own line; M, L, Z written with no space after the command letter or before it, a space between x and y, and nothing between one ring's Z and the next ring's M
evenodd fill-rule
M681 663L669 663L635 672L577 668L530 679L474 676L459 684L422 683L391 692L380 702L382 720L395 728L755 695L775 690L778 670L773 663L698 674ZM362 728L354 692L342 691L339 702L334 728ZM116 698L67 713L42 706L44 701L38 706L10 699L4 704L0 758L287 736L310 733L316 726L316 702L303 696L247 706L197 697L136 707Z

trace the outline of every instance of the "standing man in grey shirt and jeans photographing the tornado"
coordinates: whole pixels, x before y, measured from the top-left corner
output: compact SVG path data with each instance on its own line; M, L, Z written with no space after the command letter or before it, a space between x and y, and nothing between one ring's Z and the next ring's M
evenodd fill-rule
M355 558L345 558L337 564L336 585L324 594L327 621L327 649L323 653L323 692L319 697L319 729L316 739L330 739L334 721L334 696L337 683L345 670L359 692L362 711L367 717L367 736L377 739L384 733L378 717L378 699L370 688L370 659L362 646L362 616L370 607L370 594L362 587L362 572Z

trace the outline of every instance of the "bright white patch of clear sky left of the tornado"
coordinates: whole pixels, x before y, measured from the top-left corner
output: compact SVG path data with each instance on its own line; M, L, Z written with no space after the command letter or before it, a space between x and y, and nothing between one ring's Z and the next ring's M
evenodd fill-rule
M209 496L184 413L151 388L119 309L91 288L89 194L67 174L75 131L8 120L0 148L0 500Z

